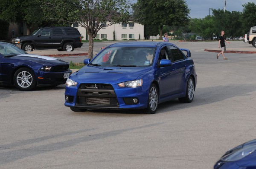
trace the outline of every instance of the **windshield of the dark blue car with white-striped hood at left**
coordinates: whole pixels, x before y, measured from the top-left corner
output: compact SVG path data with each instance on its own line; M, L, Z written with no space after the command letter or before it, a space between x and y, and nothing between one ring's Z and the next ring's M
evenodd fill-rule
M20 48L16 47L15 45L11 45L8 43L1 43L0 54L2 54L3 56L13 56L13 55L27 54L27 53L21 50Z

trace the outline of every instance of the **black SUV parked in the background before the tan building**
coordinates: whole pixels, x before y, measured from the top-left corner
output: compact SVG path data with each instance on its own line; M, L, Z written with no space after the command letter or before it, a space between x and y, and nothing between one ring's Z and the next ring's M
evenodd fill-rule
M24 51L33 51L33 49L40 48L74 51L74 48L81 48L83 45L81 41L81 34L74 27L40 28L30 36L12 39L12 43Z

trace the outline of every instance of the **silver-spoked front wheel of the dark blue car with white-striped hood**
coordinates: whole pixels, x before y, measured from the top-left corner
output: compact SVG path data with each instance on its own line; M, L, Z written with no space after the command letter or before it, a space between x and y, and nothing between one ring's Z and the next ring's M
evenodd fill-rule
M36 87L35 75L29 68L20 68L14 73L14 85L19 90L32 90Z

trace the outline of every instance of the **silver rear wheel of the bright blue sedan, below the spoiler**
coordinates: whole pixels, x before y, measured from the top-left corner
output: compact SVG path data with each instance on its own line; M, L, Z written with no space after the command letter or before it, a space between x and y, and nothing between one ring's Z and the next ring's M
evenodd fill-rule
M195 82L193 78L190 76L189 80L187 82L187 87L186 87L186 96L179 98L180 102L183 103L190 103L194 99L194 93L195 93Z

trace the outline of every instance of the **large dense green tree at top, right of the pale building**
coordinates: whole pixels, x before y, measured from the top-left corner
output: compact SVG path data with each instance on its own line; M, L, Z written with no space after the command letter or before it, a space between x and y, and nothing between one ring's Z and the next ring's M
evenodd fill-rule
M143 25L182 26L189 23L189 8L185 0L138 0L132 6L134 21Z

